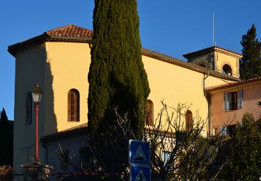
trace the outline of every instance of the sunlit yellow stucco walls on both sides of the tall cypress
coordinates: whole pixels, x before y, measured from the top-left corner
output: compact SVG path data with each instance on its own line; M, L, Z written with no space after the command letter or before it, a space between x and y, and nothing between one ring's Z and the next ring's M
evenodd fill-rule
M86 123L88 113L88 69L90 47L87 43L46 42L49 108L45 116L45 135L60 132ZM191 104L193 117L207 118L207 101L203 93L204 74L182 68L155 58L142 56L148 74L151 93L148 99L154 103L154 118L162 108L161 100L171 107L178 103ZM228 81L207 77L205 86L226 84ZM68 91L76 88L80 93L80 121L68 121ZM48 92L48 91L47 91ZM53 97L53 98L52 98ZM47 106L46 105L46 106ZM53 109L53 110L52 110Z

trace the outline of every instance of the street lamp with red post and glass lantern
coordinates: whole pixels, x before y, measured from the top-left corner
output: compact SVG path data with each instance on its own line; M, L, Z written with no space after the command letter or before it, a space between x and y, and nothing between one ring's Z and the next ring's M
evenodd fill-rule
M35 84L32 90L32 97L35 109L35 164L39 164L39 152L38 152L38 107L42 98L42 91L39 84Z

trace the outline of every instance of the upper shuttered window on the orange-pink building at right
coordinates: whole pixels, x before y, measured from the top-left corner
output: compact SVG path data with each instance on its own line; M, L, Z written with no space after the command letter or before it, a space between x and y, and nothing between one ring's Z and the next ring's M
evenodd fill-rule
M224 111L243 108L243 90L224 93Z

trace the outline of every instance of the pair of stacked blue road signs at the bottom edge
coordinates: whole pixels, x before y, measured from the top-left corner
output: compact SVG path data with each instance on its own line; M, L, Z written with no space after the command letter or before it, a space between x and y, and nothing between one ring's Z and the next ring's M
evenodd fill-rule
M130 181L150 181L150 142L129 140Z

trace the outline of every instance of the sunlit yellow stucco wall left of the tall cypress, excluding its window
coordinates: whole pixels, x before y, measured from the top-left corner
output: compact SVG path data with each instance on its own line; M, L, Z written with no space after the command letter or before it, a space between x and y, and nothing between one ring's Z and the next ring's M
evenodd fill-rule
M47 76L51 77L49 86L52 86L53 91L48 96L54 97L55 114L50 117L47 111L46 120L50 121L45 124L45 135L48 135L87 123L90 47L87 43L46 42L46 48L51 73ZM80 94L79 122L68 121L68 91L72 88L77 89Z

